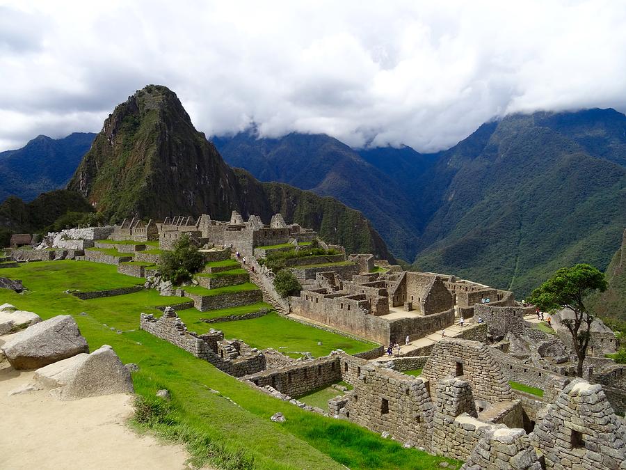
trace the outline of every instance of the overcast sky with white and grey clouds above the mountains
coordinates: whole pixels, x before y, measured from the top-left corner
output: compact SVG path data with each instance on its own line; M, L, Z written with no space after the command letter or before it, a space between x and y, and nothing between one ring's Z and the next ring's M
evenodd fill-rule
M147 84L211 136L438 150L515 111L626 111L626 2L2 1L0 150Z

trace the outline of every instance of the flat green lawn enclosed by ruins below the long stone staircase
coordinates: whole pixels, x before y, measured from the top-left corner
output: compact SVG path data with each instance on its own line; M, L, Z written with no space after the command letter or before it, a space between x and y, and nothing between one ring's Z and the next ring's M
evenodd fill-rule
M282 318L277 313L269 313L264 317L251 320L214 323L211 326L224 331L225 338L239 338L259 349L273 347L280 352L291 352L297 356L299 356L298 352L310 352L315 357L321 357L337 349L344 350L348 354L355 354L376 347L374 343L308 327L305 324ZM317 344L319 341L321 345Z

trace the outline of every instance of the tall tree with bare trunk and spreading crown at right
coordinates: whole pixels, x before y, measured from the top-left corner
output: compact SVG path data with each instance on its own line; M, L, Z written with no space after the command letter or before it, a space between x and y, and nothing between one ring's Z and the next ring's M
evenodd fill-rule
M572 347L578 359L577 375L582 377L582 369L591 338L591 323L594 315L589 313L584 298L595 290L607 290L604 273L591 265L562 267L538 288L533 290L531 303L543 311L554 308L569 308L574 318L564 318L561 323L572 336Z

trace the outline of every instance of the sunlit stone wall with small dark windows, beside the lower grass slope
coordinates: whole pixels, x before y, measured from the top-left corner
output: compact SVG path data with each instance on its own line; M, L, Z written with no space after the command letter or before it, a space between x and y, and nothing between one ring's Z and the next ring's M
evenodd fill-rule
M402 442L431 447L434 409L424 379L376 368L347 354L341 355L341 370L354 387L345 404L352 421Z

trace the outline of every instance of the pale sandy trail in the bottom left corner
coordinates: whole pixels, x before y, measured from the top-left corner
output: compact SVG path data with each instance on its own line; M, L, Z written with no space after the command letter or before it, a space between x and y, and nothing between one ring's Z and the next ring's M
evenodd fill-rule
M186 469L182 446L127 427L127 394L62 402L47 391L11 395L34 372L0 361L1 469Z

